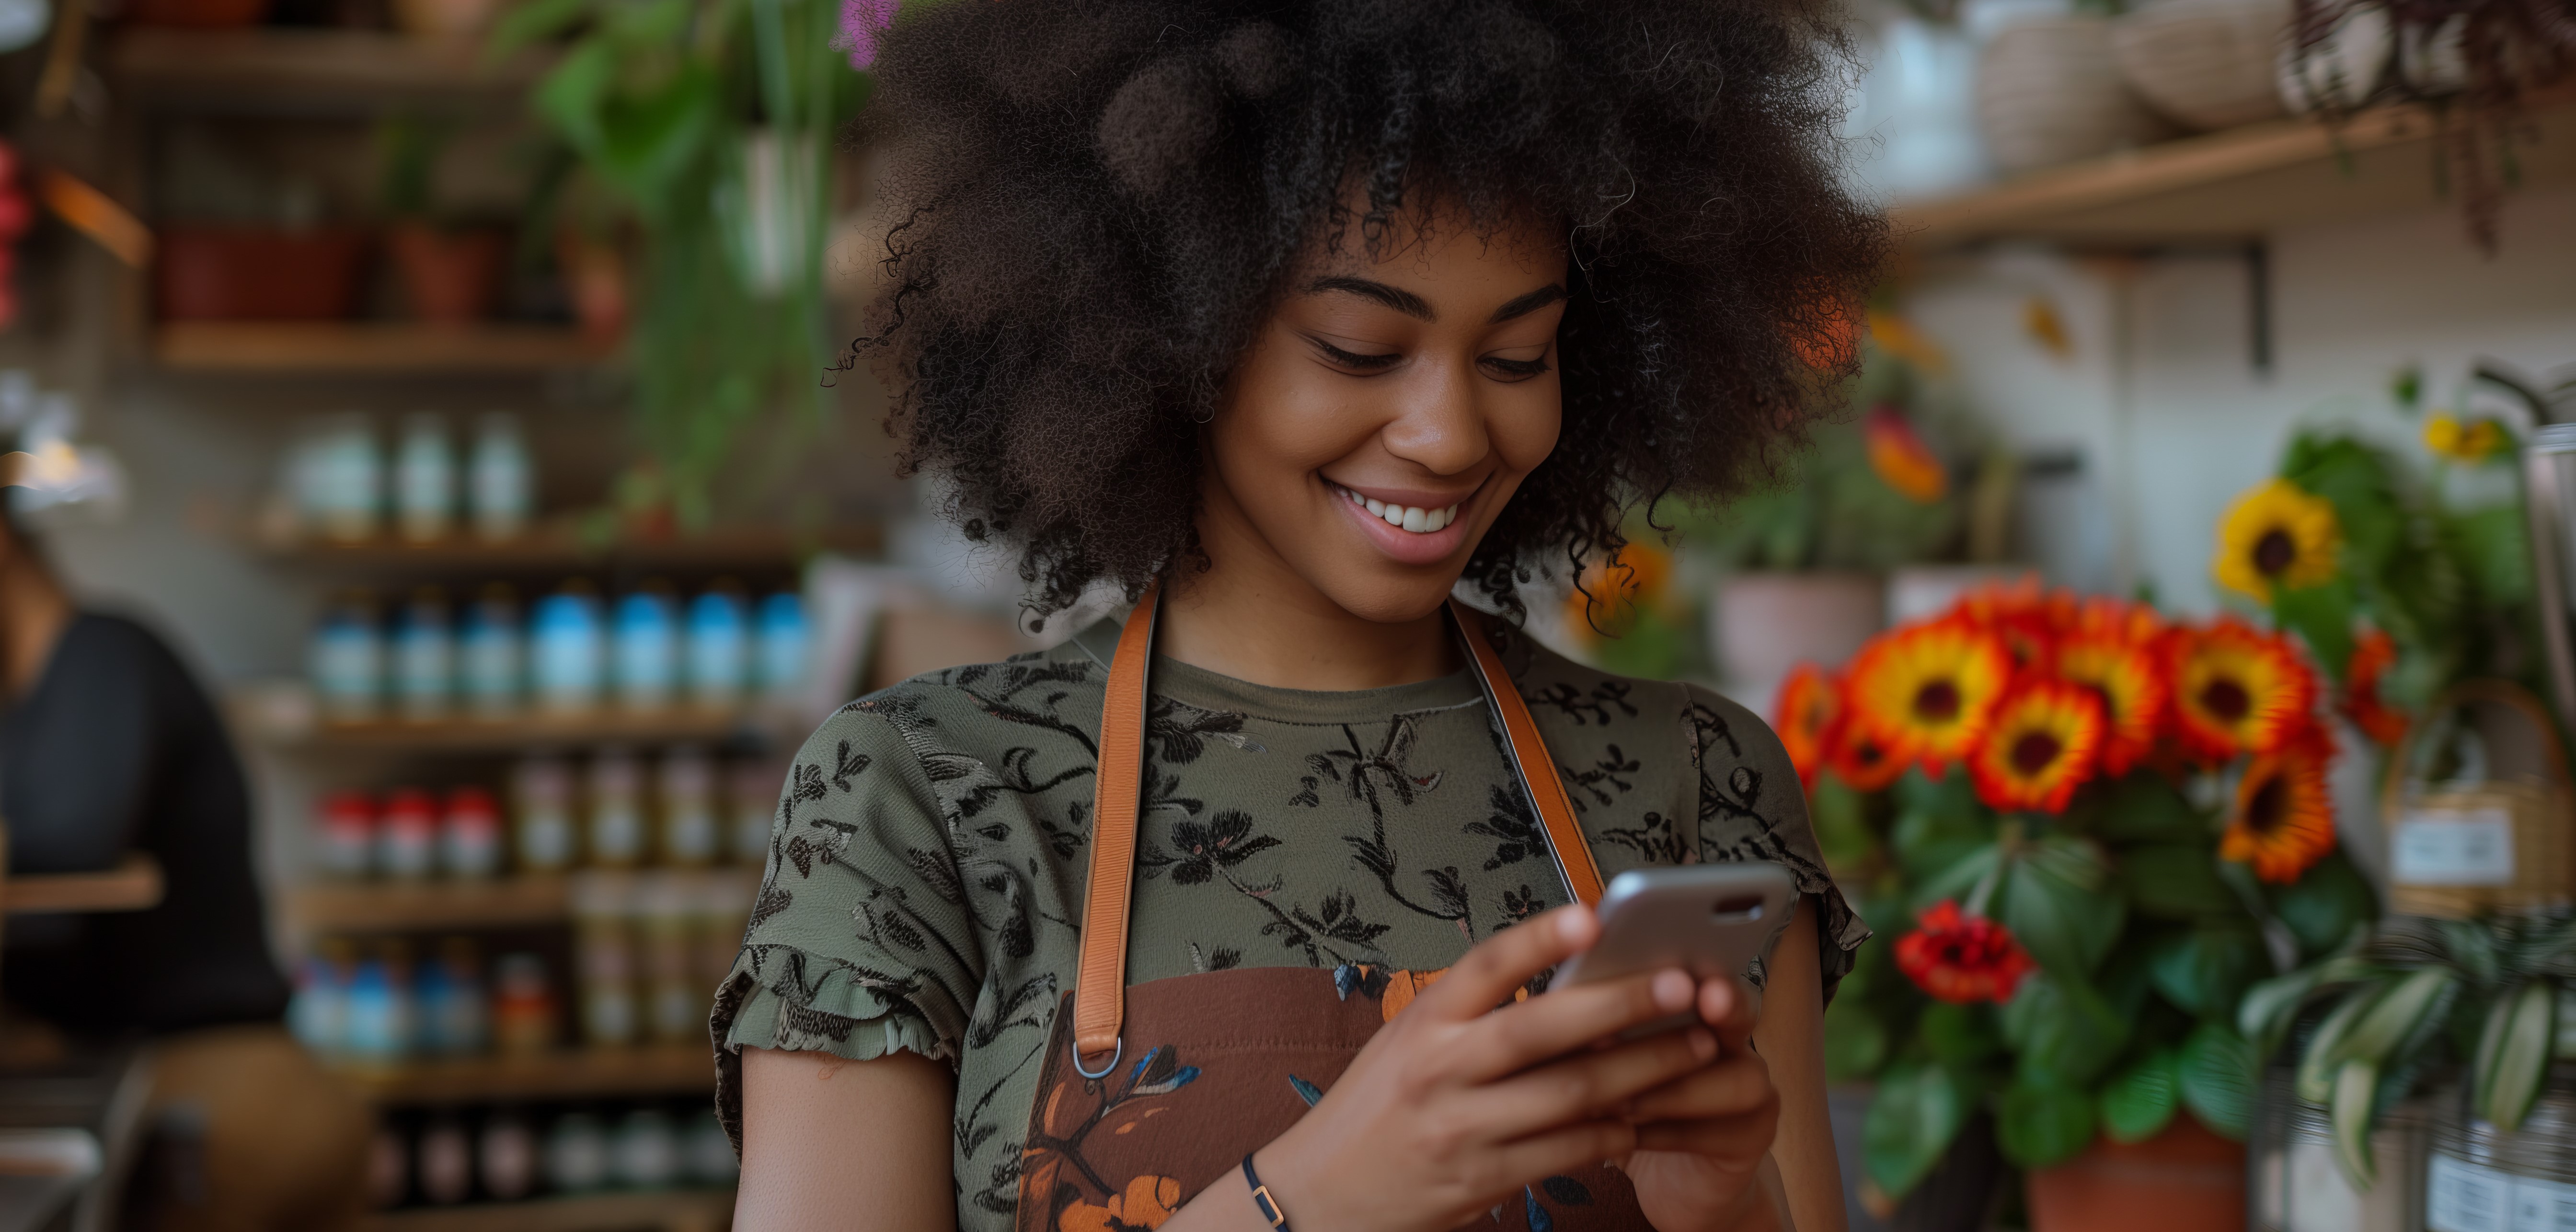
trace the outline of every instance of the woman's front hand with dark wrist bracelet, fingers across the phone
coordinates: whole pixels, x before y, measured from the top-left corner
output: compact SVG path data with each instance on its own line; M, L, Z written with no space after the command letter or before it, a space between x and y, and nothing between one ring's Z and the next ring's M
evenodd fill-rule
M1718 1039L1687 1026L1600 1041L1690 1010L1698 982L1672 969L1504 1005L1597 933L1587 907L1558 907L1471 948L1422 990L1314 1111L1255 1155L1288 1219L1443 1232L1528 1183L1636 1150L1623 1106L1710 1064Z

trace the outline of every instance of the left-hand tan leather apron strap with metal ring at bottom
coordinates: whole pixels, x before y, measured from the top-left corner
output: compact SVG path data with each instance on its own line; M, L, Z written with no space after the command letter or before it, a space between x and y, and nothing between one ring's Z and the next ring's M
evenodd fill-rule
M1144 698L1154 662L1162 588L1146 585L1118 631L1110 688L1100 704L1100 768L1092 773L1092 884L1082 894L1082 967L1074 982L1074 1070L1103 1077L1126 1044L1126 920L1136 889L1136 807L1144 799ZM1110 1054L1100 1072L1082 1054Z

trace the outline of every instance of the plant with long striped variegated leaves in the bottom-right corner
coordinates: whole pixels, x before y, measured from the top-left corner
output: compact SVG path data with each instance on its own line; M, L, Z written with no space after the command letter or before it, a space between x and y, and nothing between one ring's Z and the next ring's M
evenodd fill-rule
M2370 1188L2370 1134L2432 1075L2465 1064L2470 1113L2519 1129L2550 1064L2576 1059L2568 1000L2576 918L2391 918L2367 943L2246 990L2239 1028L2269 1057L2306 1026L2293 1088L2326 1108L2336 1162Z

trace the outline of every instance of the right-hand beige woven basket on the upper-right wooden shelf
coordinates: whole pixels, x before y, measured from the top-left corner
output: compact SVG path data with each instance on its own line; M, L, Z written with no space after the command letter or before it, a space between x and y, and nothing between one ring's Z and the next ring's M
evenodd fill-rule
M2287 113L2277 57L2290 0L2161 0L2115 18L2120 75L2166 119L2210 131Z

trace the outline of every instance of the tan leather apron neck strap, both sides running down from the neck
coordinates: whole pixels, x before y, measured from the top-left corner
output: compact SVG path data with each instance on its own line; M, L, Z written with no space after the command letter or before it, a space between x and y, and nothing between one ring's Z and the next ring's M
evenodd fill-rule
M1082 1077L1105 1077L1126 1054L1121 1039L1126 1028L1126 933L1136 892L1146 665L1154 660L1157 613L1159 588L1149 585L1126 629L1118 631L1108 698L1100 704L1100 768L1092 776L1092 881L1082 897L1082 967L1074 974L1074 1070ZM1538 735L1528 701L1520 698L1512 673L1504 670L1502 655L1486 637L1484 613L1450 601L1450 619L1458 626L1458 642L1466 644L1476 683L1502 722L1512 773L1520 776L1530 807L1538 809L1566 894L1597 905L1602 874L1592 863L1592 843L1584 840L1584 830L1574 820L1574 802L1566 799L1566 784L1556 778L1556 760L1548 758L1548 742ZM1095 1070L1084 1057L1105 1059Z

